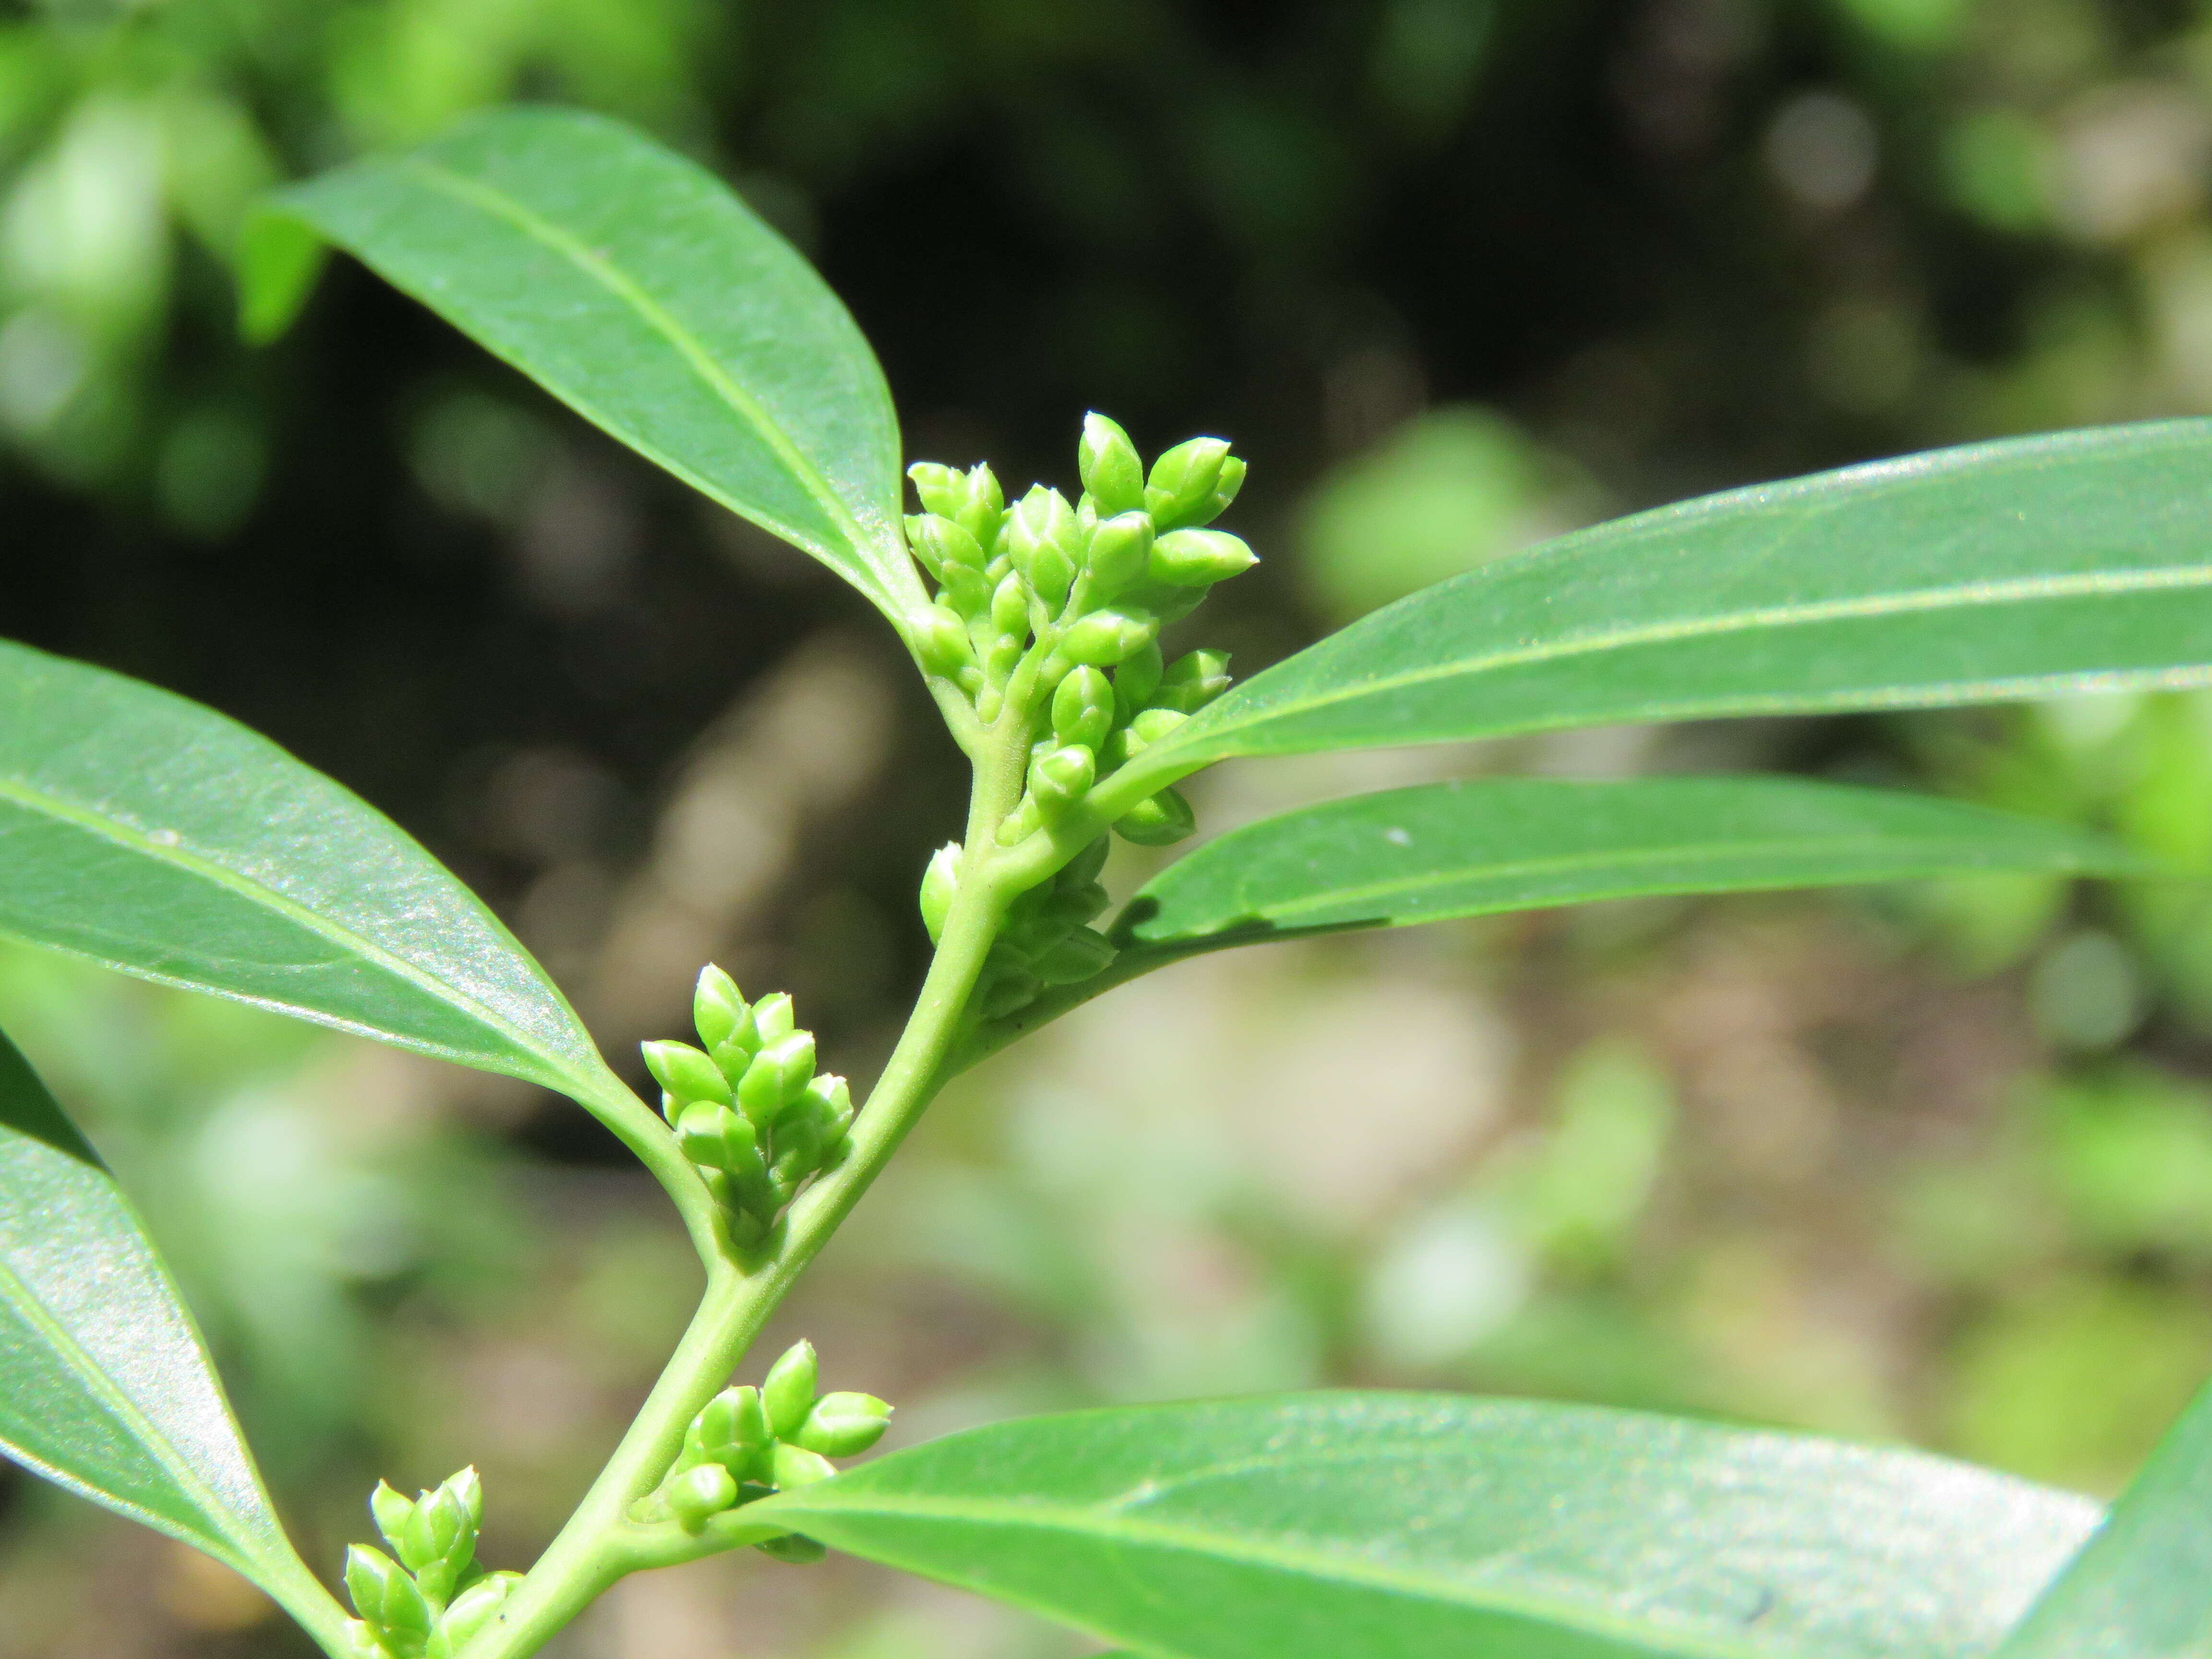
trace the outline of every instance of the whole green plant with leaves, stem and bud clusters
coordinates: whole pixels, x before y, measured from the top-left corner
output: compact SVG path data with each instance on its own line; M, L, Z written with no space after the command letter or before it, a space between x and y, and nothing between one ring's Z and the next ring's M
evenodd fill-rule
M1736 491L1427 588L1232 686L1161 630L1252 562L1243 462L1148 469L1102 416L1082 495L916 465L858 330L690 164L511 111L279 199L246 319L352 250L602 427L843 575L973 763L920 876L936 953L865 1104L781 993L699 978L646 1044L659 1110L544 973L374 810L148 686L0 646L0 929L557 1088L666 1186L699 1312L526 1573L476 1555L462 1471L372 1500L352 1615L279 1528L128 1201L0 1044L0 1440L228 1562L332 1655L535 1652L626 1573L825 1546L1148 1655L2168 1655L2212 1639L2212 1407L2099 1524L2086 1500L1805 1436L1451 1396L1084 1411L838 1473L889 1409L799 1345L732 1387L779 1298L942 1082L1186 956L1619 894L2121 872L2059 825L1792 779L1473 781L1290 812L1166 865L1106 927L1108 834L1192 830L1232 757L1608 721L2212 679L2212 422L2059 434ZM927 582L925 582L927 575ZM1347 1102L1347 1110L1356 1110Z

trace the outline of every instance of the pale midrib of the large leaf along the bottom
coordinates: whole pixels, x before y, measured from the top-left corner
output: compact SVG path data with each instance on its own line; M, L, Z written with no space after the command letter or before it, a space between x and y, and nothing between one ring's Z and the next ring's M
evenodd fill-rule
M805 1515L807 1504L801 1500L796 1504L799 1513ZM1102 1542L1128 1542L1128 1544L1159 1544L1188 1548L1201 1555L1212 1555L1228 1562L1239 1562L1245 1566L1276 1568L1283 1573L1294 1573L1303 1577L1321 1577L1334 1582L1352 1582L1363 1588L1389 1590L1396 1595L1411 1595L1425 1601L1451 1601L1453 1606L1473 1608L1478 1613L1504 1613L1517 1615L1542 1624L1559 1624L1584 1630L1588 1635L1613 1637L1626 1641L1628 1646L1644 1648L1655 1655L1674 1655L1677 1659L1765 1659L1772 1648L1761 1644L1734 1644L1705 1630L1681 1632L1688 1641L1666 1641L1663 1646L1652 1641L1652 1630L1637 1619L1626 1619L1619 1615L1606 1615L1601 1608L1593 1608L1582 1601L1546 1601L1535 1595L1515 1595L1502 1586L1467 1586L1451 1579L1436 1579L1422 1573L1402 1568L1380 1568L1371 1562L1360 1562L1356 1557L1329 1555L1323 1551L1298 1551L1285 1548L1281 1544L1263 1544L1250 1537L1234 1537L1223 1533L1208 1533L1194 1526L1177 1526L1170 1522L1155 1520L1130 1520L1117 1515L1110 1524L1102 1522L1095 1511L1066 1509L1062 1504L1029 1504L1029 1502L991 1502L980 1498L938 1498L938 1500L916 1500L916 1498L867 1498L863 1504L821 1504L816 1515L834 1517L841 1513L858 1515L911 1515L920 1520L951 1520L951 1522L978 1522L989 1526L1018 1526L1022 1531L1037 1531L1040 1526L1053 1526L1064 1533L1075 1533L1084 1537L1097 1537ZM805 1522L799 1522L805 1528Z

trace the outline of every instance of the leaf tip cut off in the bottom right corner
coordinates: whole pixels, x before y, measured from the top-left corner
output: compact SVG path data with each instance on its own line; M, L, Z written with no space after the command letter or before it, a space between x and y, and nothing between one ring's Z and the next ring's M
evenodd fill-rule
M2168 1429L2000 1659L2212 1652L2212 1387Z

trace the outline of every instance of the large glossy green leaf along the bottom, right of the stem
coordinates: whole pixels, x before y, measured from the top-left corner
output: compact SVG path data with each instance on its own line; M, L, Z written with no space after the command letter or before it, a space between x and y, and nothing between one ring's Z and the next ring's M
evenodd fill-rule
M1002 1422L748 1515L1181 1659L1964 1659L2097 1506L1809 1436L1307 1394Z

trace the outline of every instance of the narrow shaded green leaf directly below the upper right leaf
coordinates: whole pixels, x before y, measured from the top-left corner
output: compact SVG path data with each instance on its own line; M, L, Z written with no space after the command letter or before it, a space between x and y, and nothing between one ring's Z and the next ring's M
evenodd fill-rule
M1155 953L1407 927L1632 894L2112 872L2099 836L1889 790L1794 779L1473 779L1329 801L1168 865L1115 922Z

